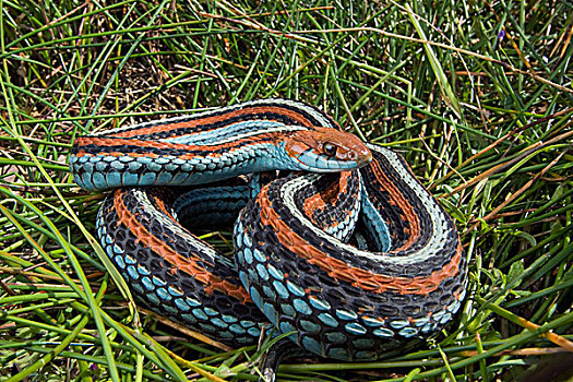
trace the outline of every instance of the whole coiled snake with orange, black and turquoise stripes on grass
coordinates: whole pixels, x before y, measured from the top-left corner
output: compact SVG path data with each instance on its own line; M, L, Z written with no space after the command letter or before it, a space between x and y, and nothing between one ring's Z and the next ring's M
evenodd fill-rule
M435 335L466 295L455 224L402 155L302 102L84 135L70 169L112 190L97 236L139 299L231 346L272 327L322 357L373 360ZM234 259L192 232L222 224Z

